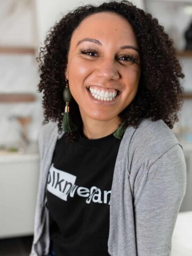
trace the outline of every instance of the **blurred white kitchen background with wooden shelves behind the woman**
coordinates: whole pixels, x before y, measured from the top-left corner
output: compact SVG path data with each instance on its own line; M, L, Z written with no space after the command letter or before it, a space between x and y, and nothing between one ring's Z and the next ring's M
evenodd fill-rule
M63 14L99 0L0 0L0 256L29 255L33 241L43 122L35 58L47 30ZM192 0L134 0L174 40L186 77L180 120L187 190L172 239L172 256L192 255ZM163 99L162 99L163 100ZM152 255L151 255L152 256Z

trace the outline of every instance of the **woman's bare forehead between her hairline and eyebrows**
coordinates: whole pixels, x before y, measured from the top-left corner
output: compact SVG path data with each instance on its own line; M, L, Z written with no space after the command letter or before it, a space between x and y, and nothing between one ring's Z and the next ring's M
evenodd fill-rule
M137 45L137 37L130 22L124 17L113 12L100 12L86 17L75 29L71 41L91 38L111 38L116 41L127 41Z

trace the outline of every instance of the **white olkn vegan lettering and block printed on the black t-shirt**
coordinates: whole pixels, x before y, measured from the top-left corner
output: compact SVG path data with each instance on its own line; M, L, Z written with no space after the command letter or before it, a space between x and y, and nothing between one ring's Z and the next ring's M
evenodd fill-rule
M47 190L64 201L67 201L68 196L74 197L76 193L78 196L86 197L87 204L90 204L91 201L110 204L111 190L102 192L95 186L90 189L79 187L75 185L76 178L73 174L56 169L52 164L47 179Z

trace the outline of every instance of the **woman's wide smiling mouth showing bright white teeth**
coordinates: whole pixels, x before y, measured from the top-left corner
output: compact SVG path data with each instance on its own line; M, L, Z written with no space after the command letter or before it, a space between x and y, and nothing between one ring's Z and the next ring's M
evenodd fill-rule
M87 91L89 91L91 93L91 95L95 99L102 100L102 101L112 101L120 93L119 90L104 89L104 88L98 89L98 87L96 87L96 86L86 87L86 89L87 89Z

